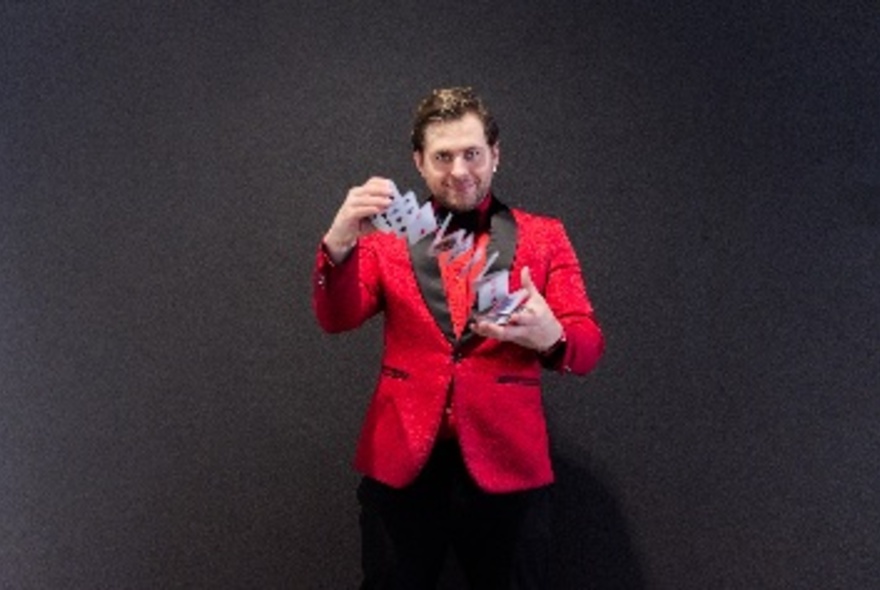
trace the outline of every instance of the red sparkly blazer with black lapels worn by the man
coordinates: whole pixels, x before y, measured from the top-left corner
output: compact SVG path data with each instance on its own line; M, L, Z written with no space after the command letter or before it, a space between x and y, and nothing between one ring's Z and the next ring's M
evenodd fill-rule
M486 251L500 255L490 270L509 268L514 291L521 269L529 267L565 330L564 353L552 368L588 372L604 341L562 224L497 200L491 214ZM318 251L313 299L324 330L351 330L384 313L382 368L355 468L393 487L412 482L428 460L451 391L462 454L482 489L511 492L551 483L541 356L467 330L455 336L430 243L426 238L410 246L376 232L338 265Z

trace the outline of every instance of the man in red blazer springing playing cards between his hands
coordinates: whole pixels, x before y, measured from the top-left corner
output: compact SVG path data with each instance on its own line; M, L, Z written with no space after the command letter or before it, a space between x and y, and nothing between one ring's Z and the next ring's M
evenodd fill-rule
M352 188L318 252L314 305L328 332L384 314L381 372L358 442L362 588L436 588L451 548L471 588L547 589L549 486L541 369L584 374L603 338L562 224L492 193L498 126L469 88L416 111L413 161L447 233L472 250L437 255L374 232L393 183ZM472 313L477 252L509 269L526 301L506 323ZM485 262L487 257L482 257Z

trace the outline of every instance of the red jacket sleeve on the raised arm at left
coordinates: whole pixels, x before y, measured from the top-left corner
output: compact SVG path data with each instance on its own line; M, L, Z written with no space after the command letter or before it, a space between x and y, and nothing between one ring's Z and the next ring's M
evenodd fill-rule
M375 251L359 241L349 256L336 264L324 244L318 247L312 277L312 304L326 332L359 327L382 308Z

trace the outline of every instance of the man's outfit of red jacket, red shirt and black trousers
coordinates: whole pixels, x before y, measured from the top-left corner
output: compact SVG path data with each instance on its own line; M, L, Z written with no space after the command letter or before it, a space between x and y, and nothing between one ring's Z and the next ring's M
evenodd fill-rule
M340 264L323 248L317 256L314 305L325 330L380 312L385 320L355 456L363 530L377 535L365 539L364 588L432 588L449 545L474 588L543 588L553 471L541 371L584 374L604 341L558 220L491 196L470 217L475 244L499 253L490 271L510 270L510 291L530 269L563 326L553 358L473 334L470 282L429 253L430 239L408 245L374 233ZM370 575L391 585L371 586Z

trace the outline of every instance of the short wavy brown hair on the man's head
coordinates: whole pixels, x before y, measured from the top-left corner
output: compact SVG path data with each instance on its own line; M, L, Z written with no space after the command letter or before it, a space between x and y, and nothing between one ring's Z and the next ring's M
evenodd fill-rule
M416 108L413 121L412 146L414 152L421 152L425 147L425 127L431 123L454 121L467 113L473 113L483 123L486 143L494 146L498 141L498 123L489 113L489 109L469 86L439 88L425 97Z

